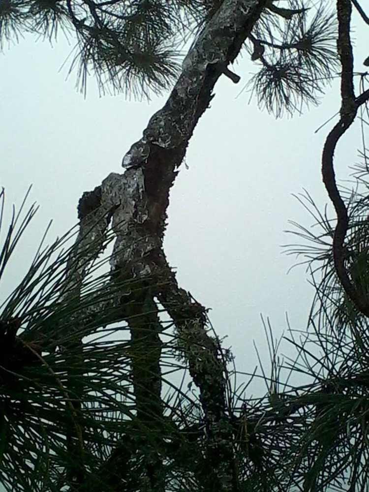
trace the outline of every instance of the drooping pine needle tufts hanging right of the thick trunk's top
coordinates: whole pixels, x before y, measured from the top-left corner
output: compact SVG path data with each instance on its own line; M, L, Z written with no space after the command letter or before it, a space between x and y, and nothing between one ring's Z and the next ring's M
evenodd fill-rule
M301 113L304 105L317 104L324 87L338 69L335 14L327 3L291 2L299 14L288 18L262 17L250 36L249 52L261 45L262 67L247 82L260 107L277 117L284 110ZM270 17L270 16L269 16Z

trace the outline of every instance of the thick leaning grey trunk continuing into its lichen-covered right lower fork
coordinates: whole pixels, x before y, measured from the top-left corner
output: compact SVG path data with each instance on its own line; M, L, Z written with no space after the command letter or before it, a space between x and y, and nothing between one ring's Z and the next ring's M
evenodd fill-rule
M157 297L173 317L182 343L181 353L199 387L209 441L208 469L212 470L204 477L203 485L208 491L228 492L236 480L231 439L227 438L232 429L225 415L225 368L216 341L207 334L204 308L178 287L167 265L162 241L169 190L192 132L209 107L220 75L231 75L235 82L238 79L227 65L238 55L265 4L266 0L223 1L185 57L182 73L164 107L154 114L143 137L124 155L124 174L110 174L100 188L101 207L104 211L113 210L112 228L117 237L112 275L142 279L142 292L137 292L132 302L139 306L140 296L147 302ZM144 281L148 277L157 280L150 288ZM150 320L141 314L141 325L149 326ZM141 328L132 324L129 317L127 322L135 339ZM158 328L154 324L152 327L152 335L158 339ZM157 363L158 358L155 367ZM132 359L136 375L142 369L137 364ZM137 392L136 399L139 404L141 397Z

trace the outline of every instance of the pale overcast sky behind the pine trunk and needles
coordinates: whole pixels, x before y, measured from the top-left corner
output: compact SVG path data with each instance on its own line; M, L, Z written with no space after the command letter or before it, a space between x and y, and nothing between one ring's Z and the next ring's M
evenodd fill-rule
M364 36L356 49L357 69L368 53ZM142 136L151 115L167 94L150 104L123 96L99 97L91 78L87 98L75 89L75 73L65 80L71 51L58 44L21 39L0 58L0 185L6 208L20 205L33 184L30 203L40 210L9 265L0 298L24 275L50 219L51 242L77 221L77 204L111 172L121 173L122 157ZM292 219L311 219L292 196L306 188L324 206L320 156L328 123L314 130L339 108L339 86L328 88L321 105L303 116L275 120L240 91L256 66L245 55L234 70L241 82L221 77L211 108L196 126L186 162L171 190L165 252L177 269L179 284L206 307L219 336L228 336L237 368L252 371L252 340L266 357L260 314L269 316L276 337L286 329L304 329L313 295L303 267L282 254L281 245L295 242L283 230ZM358 127L338 146L336 172L349 174L357 161Z

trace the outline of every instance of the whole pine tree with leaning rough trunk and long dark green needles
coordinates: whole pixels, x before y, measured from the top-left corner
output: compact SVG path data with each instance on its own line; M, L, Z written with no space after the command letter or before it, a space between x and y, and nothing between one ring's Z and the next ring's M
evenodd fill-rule
M332 162L369 92L354 94L350 0L329 7L298 0L1 0L2 46L23 32L54 39L62 30L76 39L71 69L83 92L91 70L101 92L140 96L171 87L124 155L123 174L83 194L74 244L67 234L40 248L2 306L0 473L8 490L320 491L342 485L348 473L347 490L365 490L367 350L356 320L367 316L367 263L360 225L350 236L356 249L343 245L348 214ZM283 380L270 335L268 394L255 401L232 388L231 356L211 331L207 309L178 285L162 247L169 190L189 139L218 78L240 80L228 65L243 49L260 67L249 81L258 103L277 117L317 103L336 70L342 95L322 165L338 214L326 258L334 260L346 306L329 311L317 290L322 321L317 326L311 317L306 340L324 348L318 369L307 341L291 338L299 354L291 370L307 372L307 386ZM0 274L33 214L31 208L18 230L21 216L14 216ZM110 272L98 273L113 240ZM332 326L342 319L345 330ZM109 340L107 333L129 338ZM188 368L198 398L183 387L163 396L166 367Z

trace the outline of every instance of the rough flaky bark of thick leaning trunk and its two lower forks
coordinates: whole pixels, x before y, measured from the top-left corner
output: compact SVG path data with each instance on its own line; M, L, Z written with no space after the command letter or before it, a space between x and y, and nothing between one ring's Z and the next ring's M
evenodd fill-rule
M127 319L131 332L137 417L153 432L163 412L160 323L155 299L176 325L180 348L199 388L205 415L207 470L201 480L208 491L237 490L232 429L226 417L225 368L217 341L207 333L205 308L178 286L167 263L162 247L166 209L177 169L199 118L214 97L215 83L223 73L237 82L227 65L238 55L266 5L267 0L223 1L185 57L182 73L167 102L150 119L142 138L124 155L123 174L109 174L100 186L83 194L78 207L81 230L77 241L86 238L94 245L89 260L100 253L102 241L96 238L106 234L106 217L111 218L116 234L112 281L142 281L141 288L131 294L129 309L122 312L122 319ZM96 214L103 220L96 220ZM129 460L126 450L125 456ZM157 478L160 465L158 456L147 461L145 483L141 483L146 490L164 490ZM129 466L122 467L123 475L123 468L129 472Z

